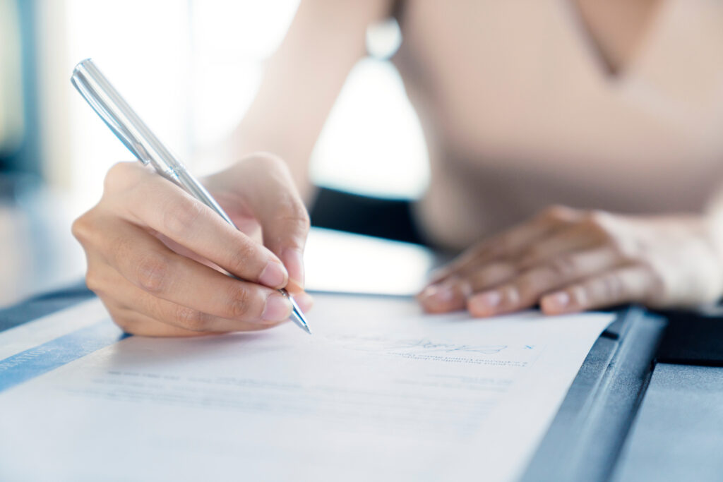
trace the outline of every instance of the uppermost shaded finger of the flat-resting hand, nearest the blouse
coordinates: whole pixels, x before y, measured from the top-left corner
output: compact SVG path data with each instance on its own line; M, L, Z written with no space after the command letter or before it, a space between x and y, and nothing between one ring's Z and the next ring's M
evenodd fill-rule
M581 217L581 213L568 207L551 207L532 220L515 226L497 236L482 241L474 249L465 251L447 267L432 275L430 284L439 283L446 277L464 276L478 264L492 262L505 257L515 257L542 238L567 227Z

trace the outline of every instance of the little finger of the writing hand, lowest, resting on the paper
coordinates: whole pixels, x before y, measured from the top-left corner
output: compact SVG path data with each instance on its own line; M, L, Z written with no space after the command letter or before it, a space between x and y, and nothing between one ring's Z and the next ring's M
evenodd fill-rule
M244 322L224 319L188 306L156 298L130 283L107 267L106 285L98 288L116 324L126 332L145 336L194 336L203 333L225 333L265 330L281 322ZM109 298L112 296L112 299Z

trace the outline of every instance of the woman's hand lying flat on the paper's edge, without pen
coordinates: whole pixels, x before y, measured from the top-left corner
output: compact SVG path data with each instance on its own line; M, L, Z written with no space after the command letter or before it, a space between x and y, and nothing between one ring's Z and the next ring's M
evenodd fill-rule
M477 244L419 295L429 312L489 317L539 304L562 314L638 302L716 301L721 253L702 217L633 217L552 207Z

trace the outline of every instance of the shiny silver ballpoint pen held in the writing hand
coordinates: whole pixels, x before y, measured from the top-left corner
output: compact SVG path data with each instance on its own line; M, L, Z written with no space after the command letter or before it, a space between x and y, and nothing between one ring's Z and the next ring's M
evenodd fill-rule
M181 161L158 140L158 137L155 137L155 134L148 129L145 122L137 116L111 85L111 82L108 82L108 79L100 73L100 70L93 64L91 59L85 59L75 66L70 82L80 92L80 95L87 100L90 107L98 113L100 119L103 119L103 122L133 152L141 163L153 165L161 176L169 179L200 202L218 212L218 215L223 220L226 220L226 223L236 228L234 221L228 217L223 208L218 205L218 202L213 199L196 178L191 176ZM309 324L307 324L304 313L301 312L294 298L291 298L286 290L282 289L279 292L288 298L294 308L291 312L291 319L310 335Z

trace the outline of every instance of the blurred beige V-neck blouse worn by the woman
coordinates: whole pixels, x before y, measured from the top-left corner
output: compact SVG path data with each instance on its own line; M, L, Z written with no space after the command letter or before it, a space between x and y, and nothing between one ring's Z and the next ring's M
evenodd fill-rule
M412 0L401 29L432 168L418 215L440 244L551 204L698 212L723 183L721 1L664 1L615 76L569 0Z

